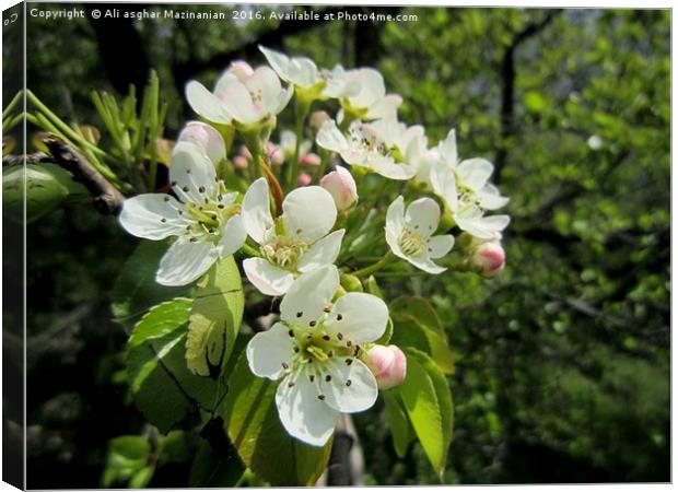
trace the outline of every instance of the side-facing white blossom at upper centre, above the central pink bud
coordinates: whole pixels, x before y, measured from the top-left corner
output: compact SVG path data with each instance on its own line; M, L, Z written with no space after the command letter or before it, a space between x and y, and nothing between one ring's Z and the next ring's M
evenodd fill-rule
M365 124L353 121L344 136L334 120L327 121L316 136L316 143L337 152L343 162L361 166L390 179L405 180L416 174L416 168L404 161L408 156L409 139L413 132L404 131L398 125Z

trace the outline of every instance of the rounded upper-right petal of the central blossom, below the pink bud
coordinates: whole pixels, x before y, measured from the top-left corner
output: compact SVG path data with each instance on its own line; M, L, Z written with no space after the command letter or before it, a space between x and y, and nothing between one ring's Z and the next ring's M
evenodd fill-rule
M335 199L320 186L292 190L282 202L282 218L287 235L313 243L324 237L335 225Z

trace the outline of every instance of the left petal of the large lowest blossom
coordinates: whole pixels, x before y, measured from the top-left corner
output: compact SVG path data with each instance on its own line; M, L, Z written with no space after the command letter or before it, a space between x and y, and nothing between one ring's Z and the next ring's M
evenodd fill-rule
M279 379L287 371L294 351L294 339L282 323L276 323L270 330L255 335L247 343L247 362L253 374L269 379Z

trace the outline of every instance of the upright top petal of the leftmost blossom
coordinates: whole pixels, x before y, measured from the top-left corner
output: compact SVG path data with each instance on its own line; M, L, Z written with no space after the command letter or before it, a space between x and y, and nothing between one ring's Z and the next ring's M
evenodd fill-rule
M178 142L172 152L170 180L185 202L202 203L204 197L217 194L214 164L195 143Z

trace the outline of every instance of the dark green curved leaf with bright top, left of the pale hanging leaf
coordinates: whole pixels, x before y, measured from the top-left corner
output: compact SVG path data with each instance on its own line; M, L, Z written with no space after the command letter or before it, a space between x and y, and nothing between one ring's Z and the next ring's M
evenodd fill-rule
M212 410L219 382L194 375L186 365L187 300L153 307L132 333L126 367L137 407L167 433L199 409Z

